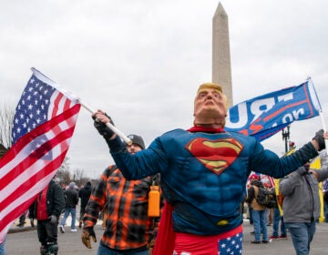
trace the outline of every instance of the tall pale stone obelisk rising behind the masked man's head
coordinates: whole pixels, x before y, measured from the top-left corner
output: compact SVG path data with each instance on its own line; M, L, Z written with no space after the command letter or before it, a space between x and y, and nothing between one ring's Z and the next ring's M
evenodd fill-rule
M232 107L233 101L228 15L220 3L213 16L212 82L218 83L222 86L224 94L228 97L228 107Z

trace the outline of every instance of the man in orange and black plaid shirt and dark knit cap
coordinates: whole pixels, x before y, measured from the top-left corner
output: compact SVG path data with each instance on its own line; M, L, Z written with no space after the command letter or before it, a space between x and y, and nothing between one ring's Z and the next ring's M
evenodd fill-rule
M144 141L130 135L128 152L135 154L145 148ZM97 254L149 254L149 244L157 234L159 217L149 217L149 190L159 175L138 180L125 179L115 166L105 169L92 191L84 215L82 242L91 248L90 237L97 241L93 230L98 214L106 213L106 230L100 240Z

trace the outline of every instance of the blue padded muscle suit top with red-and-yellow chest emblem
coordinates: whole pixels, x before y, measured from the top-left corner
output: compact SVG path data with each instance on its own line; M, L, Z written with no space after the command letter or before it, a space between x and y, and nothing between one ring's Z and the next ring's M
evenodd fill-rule
M318 155L311 143L279 158L255 138L190 130L169 131L134 156L119 138L107 139L127 179L160 172L165 198L174 206L176 232L215 235L238 227L251 170L279 179Z

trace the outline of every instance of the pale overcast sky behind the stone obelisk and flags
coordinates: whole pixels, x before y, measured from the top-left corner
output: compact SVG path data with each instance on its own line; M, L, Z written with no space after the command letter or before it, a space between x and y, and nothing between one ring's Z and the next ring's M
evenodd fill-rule
M229 16L233 101L301 84L311 76L328 108L328 3L222 0ZM214 0L5 1L0 10L0 102L16 105L34 66L89 106L108 112L147 144L192 126L197 87L211 80ZM319 117L293 123L301 146ZM282 155L282 134L263 142ZM98 178L113 163L81 109L70 169Z

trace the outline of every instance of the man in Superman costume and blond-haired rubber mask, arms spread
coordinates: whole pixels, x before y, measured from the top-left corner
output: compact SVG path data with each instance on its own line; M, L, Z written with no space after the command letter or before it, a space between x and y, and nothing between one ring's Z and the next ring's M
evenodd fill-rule
M93 114L95 127L127 179L161 175L166 215L153 254L241 253L240 204L251 170L282 178L315 158L328 138L328 133L318 131L291 156L279 158L255 138L225 132L226 116L227 98L221 87L202 84L194 101L194 127L169 131L132 156L105 125L112 122L110 117L101 110Z

